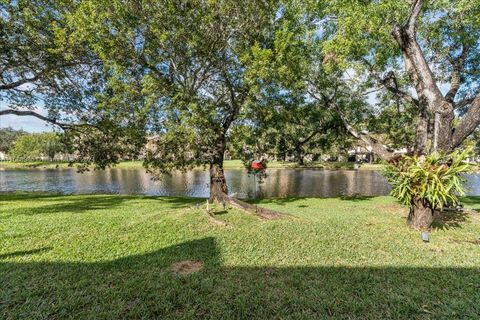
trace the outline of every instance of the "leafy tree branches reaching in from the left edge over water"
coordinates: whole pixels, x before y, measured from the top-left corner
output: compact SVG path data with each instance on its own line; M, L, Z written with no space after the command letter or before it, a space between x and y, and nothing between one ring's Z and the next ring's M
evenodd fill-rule
M135 79L107 79L99 57L71 41L77 5L0 1L0 117L32 116L64 130L79 161L104 168L143 147L144 114L131 98L139 94Z

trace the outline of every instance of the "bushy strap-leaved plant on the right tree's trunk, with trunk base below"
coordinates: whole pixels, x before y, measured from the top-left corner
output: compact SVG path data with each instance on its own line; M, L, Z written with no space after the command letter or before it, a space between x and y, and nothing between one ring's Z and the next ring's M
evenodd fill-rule
M391 195L410 208L408 223L412 227L427 229L434 210L458 205L458 197L464 195L462 174L471 169L465 160L472 151L403 156L384 167L384 176L393 187Z

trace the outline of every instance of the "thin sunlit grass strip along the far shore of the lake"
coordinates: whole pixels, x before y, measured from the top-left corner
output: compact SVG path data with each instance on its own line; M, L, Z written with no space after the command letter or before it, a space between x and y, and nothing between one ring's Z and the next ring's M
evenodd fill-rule
M123 169L141 169L142 161L121 161L118 163L115 168ZM354 164L350 162L316 162L310 163L305 166L299 166L294 162L287 161L270 161L268 163L269 169L353 169ZM31 162L14 162L14 161L1 161L0 168L10 168L10 169L33 169L33 168L45 168L45 169L56 169L56 168L68 168L68 162L62 161L31 161ZM225 160L224 161L225 169L243 169L243 163L240 160ZM360 165L360 170L380 170L381 165L379 164L362 164Z

